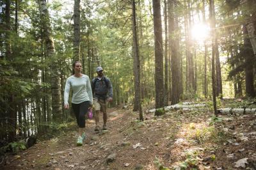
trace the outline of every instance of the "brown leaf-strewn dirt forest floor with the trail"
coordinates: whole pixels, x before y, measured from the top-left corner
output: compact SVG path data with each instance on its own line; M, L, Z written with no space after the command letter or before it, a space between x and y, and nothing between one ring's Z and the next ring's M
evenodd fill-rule
M131 108L108 115L108 131L95 133L94 121L86 121L83 146L67 131L8 155L0 169L256 169L255 113L216 118L202 107L161 117L145 112L143 122Z

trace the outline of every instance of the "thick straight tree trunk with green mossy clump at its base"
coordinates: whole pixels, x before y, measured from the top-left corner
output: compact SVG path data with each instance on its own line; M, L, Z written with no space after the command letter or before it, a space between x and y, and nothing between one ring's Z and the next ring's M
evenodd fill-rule
M163 37L161 22L160 0L153 0L154 35L155 35L155 87L156 109L164 107L164 78L163 78ZM156 111L155 115L158 115Z

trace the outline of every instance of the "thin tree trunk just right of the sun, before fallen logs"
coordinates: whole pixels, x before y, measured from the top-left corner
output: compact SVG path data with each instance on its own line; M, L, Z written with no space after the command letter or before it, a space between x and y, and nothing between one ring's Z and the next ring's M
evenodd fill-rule
M216 104L216 80L215 80L215 12L214 12L214 0L209 0L210 22L211 22L211 36L212 36L212 103L214 108L214 115L217 115Z

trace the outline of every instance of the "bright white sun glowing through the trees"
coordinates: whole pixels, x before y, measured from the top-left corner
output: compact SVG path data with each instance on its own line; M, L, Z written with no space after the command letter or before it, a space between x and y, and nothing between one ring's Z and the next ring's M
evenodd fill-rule
M204 41L205 39L209 38L210 27L205 24L193 25L191 35L193 39L196 39L196 41Z

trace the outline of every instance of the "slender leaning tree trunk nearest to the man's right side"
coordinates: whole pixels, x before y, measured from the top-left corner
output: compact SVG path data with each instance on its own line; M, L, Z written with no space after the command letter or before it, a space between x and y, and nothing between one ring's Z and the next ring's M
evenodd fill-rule
M133 111L140 111L140 120L143 120L141 110L141 87L140 87L140 55L138 45L138 32L137 32L137 20L136 20L136 4L135 0L132 0L132 32L133 32L133 68L134 68L134 108Z

